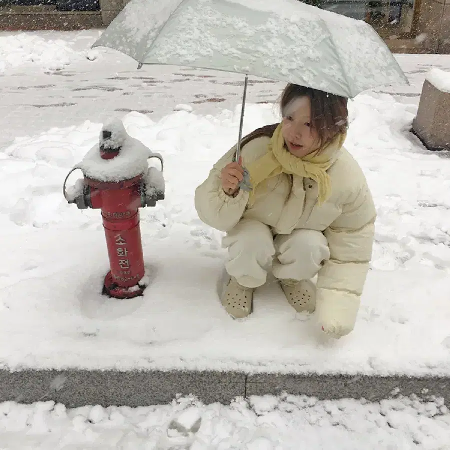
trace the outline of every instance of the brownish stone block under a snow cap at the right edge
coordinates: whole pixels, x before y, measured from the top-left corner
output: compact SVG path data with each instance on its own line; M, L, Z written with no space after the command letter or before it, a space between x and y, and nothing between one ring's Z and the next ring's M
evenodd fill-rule
M412 129L429 150L450 150L450 93L425 80Z

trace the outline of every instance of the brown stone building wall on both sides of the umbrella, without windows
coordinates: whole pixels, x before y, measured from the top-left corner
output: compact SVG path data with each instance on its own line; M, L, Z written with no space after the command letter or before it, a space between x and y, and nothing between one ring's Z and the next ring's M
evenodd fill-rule
M0 30L101 28L111 23L129 0L99 0L100 10L82 12L58 10L58 2L70 0L46 0L46 6L40 7L4 5L10 1L0 0ZM20 0L14 1L20 3ZM32 4L32 0L26 1ZM387 36L387 45L394 53L450 54L450 0L415 1L420 2L417 5L419 18L415 37L398 39Z

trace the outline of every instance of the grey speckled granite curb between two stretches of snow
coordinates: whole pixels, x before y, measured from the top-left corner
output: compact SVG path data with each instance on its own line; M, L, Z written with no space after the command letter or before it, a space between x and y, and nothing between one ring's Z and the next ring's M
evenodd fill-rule
M0 370L0 403L55 401L68 408L166 404L176 395L195 395L205 404L229 404L235 397L281 394L318 399L365 398L379 401L397 395L443 397L450 404L449 377L279 375L213 371Z

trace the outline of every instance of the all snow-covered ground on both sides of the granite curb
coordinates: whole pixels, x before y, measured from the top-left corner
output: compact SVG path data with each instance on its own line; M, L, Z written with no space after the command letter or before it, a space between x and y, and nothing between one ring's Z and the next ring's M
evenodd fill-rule
M336 342L314 317L295 314L275 283L256 293L243 322L217 299L226 254L221 233L198 220L193 192L234 144L241 77L137 71L121 55L88 50L97 35L0 33L1 369L450 376L450 158L408 132L426 72L450 71L450 56L398 55L411 86L350 102L347 147L367 175L378 219L356 329ZM245 132L277 120L281 88L252 80ZM116 116L165 158L166 199L141 211L151 283L130 301L100 295L108 260L99 211L66 204L61 191ZM292 395L231 405L181 397L139 408L5 402L0 450L450 450L447 406L438 398Z

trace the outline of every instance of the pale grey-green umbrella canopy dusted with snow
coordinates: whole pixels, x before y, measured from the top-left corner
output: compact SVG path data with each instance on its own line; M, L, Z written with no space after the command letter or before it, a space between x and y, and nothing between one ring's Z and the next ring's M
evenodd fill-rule
M139 64L243 73L347 98L408 84L370 25L295 0L132 0L97 46Z

